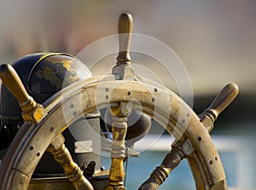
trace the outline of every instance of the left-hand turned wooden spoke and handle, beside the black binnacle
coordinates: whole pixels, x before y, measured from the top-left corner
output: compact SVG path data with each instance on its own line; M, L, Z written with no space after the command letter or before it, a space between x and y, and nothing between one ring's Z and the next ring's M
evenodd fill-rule
M44 107L33 101L32 97L26 93L26 89L20 81L18 74L15 72L14 68L9 64L3 64L0 66L0 78L2 78L3 83L15 96L19 102L20 108L23 111L22 117L27 122L33 122L38 124L38 122L46 116ZM33 146L29 148L31 151L34 149ZM57 135L50 146L48 151L53 154L55 160L61 165L67 178L73 182L75 189L92 190L90 182L83 176L83 171L79 169L78 164L73 162L73 159L64 145L64 137L62 135ZM37 153L40 157L41 153ZM21 175L20 172L14 172L15 179L20 176L24 179L29 179L26 175ZM26 177L25 177L26 176ZM19 177L18 177L19 178ZM19 183L19 181L17 181ZM12 182L12 187L18 186L15 181Z

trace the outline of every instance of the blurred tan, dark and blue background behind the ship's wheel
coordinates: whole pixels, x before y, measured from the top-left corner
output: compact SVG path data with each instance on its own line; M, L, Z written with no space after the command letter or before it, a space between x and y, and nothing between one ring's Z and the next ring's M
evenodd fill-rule
M0 0L0 3L0 63L11 63L20 56L42 51L77 55L90 43L116 34L119 14L128 11L134 18L134 33L159 39L183 61L193 88L196 113L207 108L226 83L236 83L240 95L219 116L212 138L223 158L229 185L256 187L253 180L256 176L253 162L256 156L256 1ZM94 69L93 74L102 74L97 71ZM172 89L170 78L158 77ZM176 87L173 88L175 91ZM144 163L139 170L149 175L166 153L167 148L153 148L143 152L142 158L131 158L127 183L130 181L138 187L137 181L148 177L132 168L132 164ZM195 189L191 187L193 180L185 162L170 178L160 189Z

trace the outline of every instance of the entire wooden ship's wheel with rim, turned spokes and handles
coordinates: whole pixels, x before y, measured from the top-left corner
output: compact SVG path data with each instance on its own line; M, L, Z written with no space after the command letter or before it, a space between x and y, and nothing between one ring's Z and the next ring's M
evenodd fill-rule
M73 83L49 98L43 106L27 95L10 65L1 65L0 77L19 101L26 122L3 158L0 189L27 189L45 151L52 153L61 164L75 189L93 189L73 162L61 132L84 114L106 107L111 107L113 115L113 147L109 184L105 189L125 189L123 159L126 121L131 109L138 109L154 118L177 139L171 152L139 189L156 189L183 158L189 162L197 190L227 189L224 168L209 132L218 114L236 98L236 84L227 84L212 105L201 115L196 115L171 89L133 79L129 56L131 26L131 14L121 14L119 34L128 35L120 35L120 51L112 75Z

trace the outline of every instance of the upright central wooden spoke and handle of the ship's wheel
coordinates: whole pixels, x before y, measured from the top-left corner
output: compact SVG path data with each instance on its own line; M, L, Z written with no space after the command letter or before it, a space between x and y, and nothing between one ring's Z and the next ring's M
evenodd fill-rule
M119 55L116 66L113 67L113 74L117 79L127 80L134 77L131 68L130 43L132 32L132 16L124 13L119 16ZM111 107L113 115L113 142L111 151L111 166L109 170L109 184L106 190L125 190L124 187L124 165L125 158L125 135L127 132L127 120L131 113L131 103L120 101L118 107Z

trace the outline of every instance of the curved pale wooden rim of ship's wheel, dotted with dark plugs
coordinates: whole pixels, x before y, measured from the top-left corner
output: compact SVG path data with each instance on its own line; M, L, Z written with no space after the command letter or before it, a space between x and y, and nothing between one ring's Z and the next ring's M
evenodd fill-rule
M56 135L84 113L93 112L96 108L109 107L110 104L120 101L131 101L135 108L143 107L143 112L160 124L165 125L163 121L167 121L166 130L170 134L180 139L189 138L195 152L189 156L188 161L197 189L226 189L224 169L211 136L195 113L172 90L158 87L155 93L155 87L148 83L116 80L78 84L82 85L82 88L75 88L73 85L67 90L68 93L59 94L65 97L64 100L55 96L55 99L48 101L45 107L48 115L38 125L23 125L7 153L9 161L4 160L8 166L1 166L0 182L3 189L26 189L33 170ZM106 87L111 95L106 92ZM128 91L131 95L127 94ZM164 102L169 101L168 105L159 103L158 100L163 100L163 97ZM54 106L49 102L55 102ZM169 112L170 116L166 112ZM58 118L57 123L55 118ZM201 141L198 141L199 137Z

